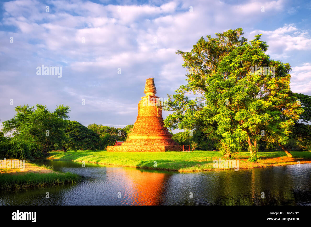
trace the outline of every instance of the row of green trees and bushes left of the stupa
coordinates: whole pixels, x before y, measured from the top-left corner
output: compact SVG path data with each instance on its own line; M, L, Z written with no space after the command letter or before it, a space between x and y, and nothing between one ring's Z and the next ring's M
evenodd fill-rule
M36 107L17 106L15 110L15 117L2 123L0 159L34 159L55 150L106 149L117 140L126 140L133 127L114 128L97 124L85 127L68 120L70 107L64 105L57 106L53 112L39 104ZM5 133L11 137L6 137Z

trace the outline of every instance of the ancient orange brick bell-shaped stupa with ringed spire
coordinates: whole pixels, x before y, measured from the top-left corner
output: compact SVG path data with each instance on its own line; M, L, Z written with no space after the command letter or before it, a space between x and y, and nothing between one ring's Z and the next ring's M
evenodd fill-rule
M145 96L138 103L138 116L128 140L121 146L107 146L107 151L152 152L182 151L163 126L162 104L156 95L153 78L146 79Z

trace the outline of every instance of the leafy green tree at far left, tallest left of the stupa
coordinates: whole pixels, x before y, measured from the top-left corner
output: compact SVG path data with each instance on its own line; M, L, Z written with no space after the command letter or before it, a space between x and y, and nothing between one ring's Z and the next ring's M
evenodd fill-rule
M53 145L65 139L65 127L69 118L69 106L59 105L50 112L44 105L24 105L15 108L14 118L2 122L2 131L12 133L14 140L27 141L45 156ZM23 149L23 148L21 148Z

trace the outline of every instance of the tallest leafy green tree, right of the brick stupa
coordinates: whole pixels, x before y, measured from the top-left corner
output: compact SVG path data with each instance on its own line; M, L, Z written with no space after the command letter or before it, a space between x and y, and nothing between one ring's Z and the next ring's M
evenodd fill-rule
M285 145L288 127L302 112L289 96L290 65L265 54L268 45L261 35L250 42L241 35L241 28L228 30L216 33L216 38L201 37L190 52L178 50L189 71L188 84L169 96L166 108L174 113L165 126L209 131L228 157L245 141L253 157L262 131Z

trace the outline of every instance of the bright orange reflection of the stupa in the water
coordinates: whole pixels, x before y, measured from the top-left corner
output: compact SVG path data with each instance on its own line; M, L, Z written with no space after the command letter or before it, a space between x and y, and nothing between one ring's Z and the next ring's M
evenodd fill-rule
M124 187L128 193L122 197L132 199L131 205L160 205L167 174L132 168L107 168L107 175L109 172L124 176Z

